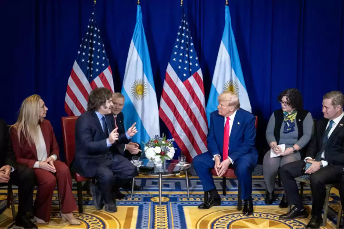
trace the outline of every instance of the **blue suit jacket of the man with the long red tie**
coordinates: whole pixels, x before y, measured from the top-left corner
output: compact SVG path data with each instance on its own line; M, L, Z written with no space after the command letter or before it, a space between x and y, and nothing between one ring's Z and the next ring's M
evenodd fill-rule
M245 111L244 109L237 110L232 130L229 136L229 152L230 157L234 163L235 160L251 154L252 157L258 158L258 152L255 148L256 138L256 117ZM214 111L210 114L210 128L207 136L208 150L212 155L223 155L223 134L225 126L225 117Z

